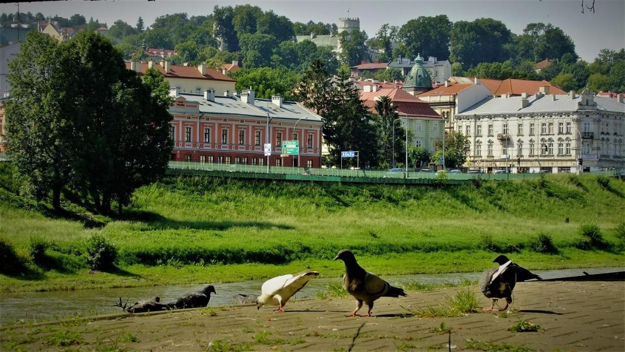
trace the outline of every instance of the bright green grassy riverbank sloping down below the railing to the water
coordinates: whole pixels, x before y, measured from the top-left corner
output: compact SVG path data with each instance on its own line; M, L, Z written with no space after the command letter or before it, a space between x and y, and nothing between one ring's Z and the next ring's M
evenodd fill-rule
M0 237L22 262L0 274L0 292L241 281L304 267L339 276L331 259L344 247L379 274L480 271L496 252L530 269L625 259L614 232L625 184L596 176L447 188L172 177L139 189L123 218L80 220L88 206L66 200L68 214L51 214L0 171ZM584 222L602 239L582 236ZM89 271L94 234L116 247L117 269ZM38 256L32 244L42 244Z

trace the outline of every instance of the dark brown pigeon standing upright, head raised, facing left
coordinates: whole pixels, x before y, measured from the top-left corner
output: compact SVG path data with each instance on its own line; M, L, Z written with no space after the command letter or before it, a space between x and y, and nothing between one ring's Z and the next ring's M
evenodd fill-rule
M388 282L380 279L376 274L362 269L356 262L356 257L351 251L342 249L336 254L336 259L341 259L345 263L345 275L343 276L343 286L349 294L357 301L356 310L347 316L357 316L356 312L362 307L362 302L369 306L367 314L361 316L371 316L373 302L381 297L406 297L403 289L391 286Z

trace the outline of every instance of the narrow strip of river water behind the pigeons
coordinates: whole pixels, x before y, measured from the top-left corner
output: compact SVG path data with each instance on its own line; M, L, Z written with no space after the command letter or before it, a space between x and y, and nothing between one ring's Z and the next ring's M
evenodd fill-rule
M543 279L556 277L579 276L582 271L589 274L601 274L604 272L624 271L622 267L606 267L593 269L565 269L565 270L537 270L532 271ZM396 286L409 282L422 282L427 284L442 284L444 282L459 282L462 279L476 280L481 273L461 272L456 274L416 274L400 276L383 276L386 281ZM234 296L237 294L260 294L264 280L229 282L214 284L217 294L211 296L209 306L228 306L236 304ZM317 291L326 291L326 285L330 282L341 282L339 278L313 279L307 286L299 291L295 299L314 298ZM190 292L199 291L204 284L175 285L175 286L150 286L150 287L126 287L114 289L83 289L78 291L52 291L52 292L21 292L0 295L0 324L17 320L41 321L42 319L61 318L64 316L82 314L84 316L121 313L121 308L113 304L129 298L128 304L137 300L154 298L159 296L161 302L169 302L179 296Z

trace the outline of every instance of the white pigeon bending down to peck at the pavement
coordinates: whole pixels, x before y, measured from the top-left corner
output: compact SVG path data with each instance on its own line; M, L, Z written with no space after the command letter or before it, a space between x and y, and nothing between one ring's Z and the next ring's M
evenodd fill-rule
M262 306L279 306L274 312L284 312L284 304L304 288L308 281L319 275L319 272L305 270L298 274L286 274L269 279L262 284L261 295L256 298L256 308Z

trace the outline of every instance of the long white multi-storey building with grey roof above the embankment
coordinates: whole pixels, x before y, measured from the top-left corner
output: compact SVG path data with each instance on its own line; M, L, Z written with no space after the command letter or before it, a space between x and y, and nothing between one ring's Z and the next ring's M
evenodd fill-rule
M471 142L467 167L576 172L625 166L625 103L584 90L568 95L489 97L455 115Z

